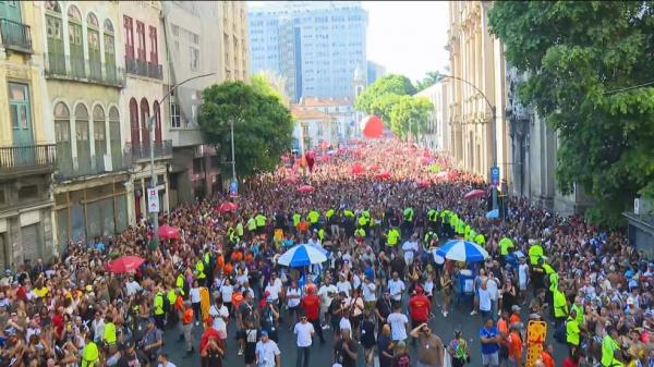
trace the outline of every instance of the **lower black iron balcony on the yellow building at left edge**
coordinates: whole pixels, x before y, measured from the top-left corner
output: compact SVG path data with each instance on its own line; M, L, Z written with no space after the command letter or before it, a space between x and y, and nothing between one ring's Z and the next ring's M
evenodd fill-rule
M47 173L55 170L53 144L0 147L0 176Z

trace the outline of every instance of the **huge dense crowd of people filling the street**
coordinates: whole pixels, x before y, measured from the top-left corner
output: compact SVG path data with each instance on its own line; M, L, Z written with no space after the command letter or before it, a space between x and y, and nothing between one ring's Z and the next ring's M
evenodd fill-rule
M566 351L557 358L542 341L534 366L654 366L654 264L620 232L521 198L507 198L506 216L487 219L485 196L464 198L487 191L484 179L445 155L358 142L287 157L241 186L238 198L162 213L161 224L179 233L158 244L143 219L111 238L71 243L61 256L5 270L0 367L184 365L164 352L178 343L166 340L168 330L207 367L222 366L228 354L251 367L307 367L318 343L334 351L328 364L342 367L523 366L531 320L547 322ZM238 207L219 209L227 200ZM467 264L435 255L451 238L491 256ZM279 266L296 244L328 260ZM145 261L132 272L108 271L121 256ZM435 314L447 322L467 295L479 335L439 333ZM294 362L282 360L282 332L296 335ZM470 338L481 356L471 355Z

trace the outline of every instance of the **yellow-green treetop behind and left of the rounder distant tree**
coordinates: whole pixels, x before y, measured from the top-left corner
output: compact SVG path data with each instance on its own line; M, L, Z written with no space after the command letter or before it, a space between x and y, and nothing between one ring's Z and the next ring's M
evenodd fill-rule
M354 107L367 114L379 115L380 111L389 113L383 106L388 107L389 100L382 102L386 95L407 96L415 94L415 87L403 75L385 75L371 84L354 101ZM391 97L392 98L392 97ZM382 106L380 106L382 105ZM379 115L384 120L382 115ZM385 120L388 122L387 120Z

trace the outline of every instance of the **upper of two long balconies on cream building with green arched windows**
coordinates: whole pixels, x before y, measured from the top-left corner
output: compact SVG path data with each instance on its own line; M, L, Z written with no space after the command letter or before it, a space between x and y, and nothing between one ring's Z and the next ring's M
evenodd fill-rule
M118 88L125 86L125 73L121 68L110 64L89 64L87 59L71 58L57 52L47 52L47 56L46 78L101 84Z

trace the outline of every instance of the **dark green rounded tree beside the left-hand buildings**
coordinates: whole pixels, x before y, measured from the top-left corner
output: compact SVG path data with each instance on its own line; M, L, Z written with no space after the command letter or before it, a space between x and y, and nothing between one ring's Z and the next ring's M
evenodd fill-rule
M231 161L230 124L233 123L240 178L274 169L281 154L291 146L291 113L270 90L274 89L261 84L255 87L243 82L226 82L203 91L199 125L219 147L220 158Z

